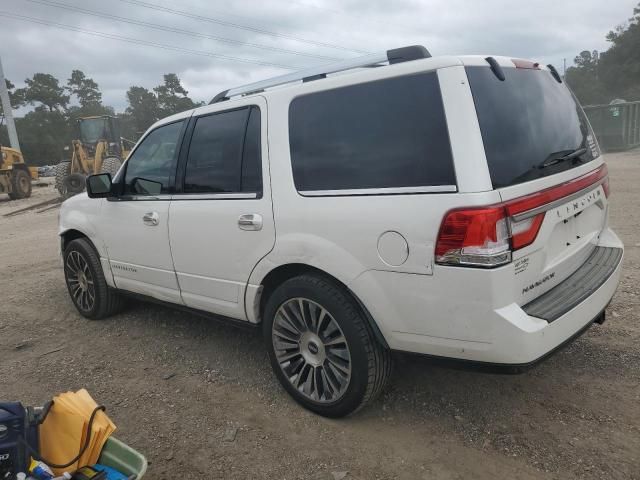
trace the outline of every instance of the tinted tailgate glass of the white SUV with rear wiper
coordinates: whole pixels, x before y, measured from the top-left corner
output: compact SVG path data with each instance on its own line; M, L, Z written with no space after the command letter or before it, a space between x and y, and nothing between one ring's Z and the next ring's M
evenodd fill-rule
M597 155L582 108L549 72L505 68L501 82L489 67L467 67L494 188L552 175ZM539 168L586 148L580 157Z

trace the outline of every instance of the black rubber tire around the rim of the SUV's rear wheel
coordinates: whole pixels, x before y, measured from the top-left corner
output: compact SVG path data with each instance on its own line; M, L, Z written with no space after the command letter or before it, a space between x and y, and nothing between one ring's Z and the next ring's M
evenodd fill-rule
M274 340L277 336L273 329L274 320L279 309L291 299L308 299L312 304L326 310L338 324L341 329L340 333L346 339L345 343L347 344L351 361L350 379L344 393L335 401L315 401L309 398L309 395L298 391L278 362L276 347L274 346L274 342L277 341ZM308 410L325 417L344 417L371 403L384 388L391 373L391 352L376 340L371 326L355 299L344 287L337 285L329 278L309 274L287 280L276 288L268 298L263 318L263 335L273 371L284 389L296 402ZM320 315L319 318L322 318L322 316ZM300 339L298 344L302 351ZM316 348L314 350L317 351ZM322 351L325 351L324 346ZM280 346L279 352L282 355L282 346ZM291 368L293 361L284 362L284 364L287 363ZM320 367L326 370L325 363ZM303 375L304 368L301 367L299 376ZM315 371L315 369L311 370L314 373L309 373L308 375L315 376ZM317 377L313 381L322 383L321 381L318 382Z

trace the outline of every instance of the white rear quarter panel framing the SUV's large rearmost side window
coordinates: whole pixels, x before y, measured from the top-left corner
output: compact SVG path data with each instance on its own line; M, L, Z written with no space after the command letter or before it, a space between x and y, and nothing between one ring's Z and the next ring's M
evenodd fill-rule
M452 153L460 193L302 196L296 191L291 167L289 104L301 94L352 84L353 78L351 75L327 78L312 82L311 86L307 84L302 89L274 90L265 95L269 102L269 156L276 243L256 266L249 281L246 305L251 320L258 320L255 316L252 318L250 312L262 279L280 265L301 263L333 275L352 288L359 298L367 298L366 306L383 333L407 327L392 325L392 322L405 319L401 315L389 318L388 309L376 306L378 302L404 301L401 295L389 291L389 288L393 290L394 285L399 287L400 284L387 283L387 279L392 277L385 276L383 283L372 288L366 283L356 282L356 279L368 271L410 274L406 275L407 278L432 276L434 245L445 212L500 200L491 188L480 130L473 115L471 92L465 81L464 69L458 64L452 60L444 63L438 60L432 64L427 61L408 62L367 72L366 79L372 81L441 68L438 74L451 143L455 145ZM401 265L390 265L381 258L378 242L385 232L397 232L406 240L408 254ZM425 286L429 282L419 284ZM384 291L384 295L371 295L376 288ZM401 312L402 309L395 311ZM414 325L407 328L424 329L424 319L409 321ZM418 322L422 325L417 325Z

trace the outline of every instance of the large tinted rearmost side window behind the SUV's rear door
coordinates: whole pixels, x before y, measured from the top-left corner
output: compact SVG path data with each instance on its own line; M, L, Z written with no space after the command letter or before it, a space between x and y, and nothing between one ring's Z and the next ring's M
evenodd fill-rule
M456 183L435 72L298 97L289 141L301 192Z

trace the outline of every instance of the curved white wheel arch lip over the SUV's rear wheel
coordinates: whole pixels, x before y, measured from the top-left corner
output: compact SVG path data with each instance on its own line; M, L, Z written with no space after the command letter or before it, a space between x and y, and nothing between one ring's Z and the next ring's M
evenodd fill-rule
M373 331L376 339L380 342L380 344L384 348L389 348L389 344L385 339L382 331L378 327L377 322L367 309L367 307L362 303L362 301L358 298L358 296L340 279L331 275L330 273L312 265L308 265L305 263L288 263L284 265L279 265L272 270L270 270L260 282L260 286L258 287L258 293L255 297L253 305L249 305L247 302L247 309L253 308L253 316L257 323L262 321L262 314L264 312L264 307L269 299L269 296L278 288L279 285L286 282L287 280L297 277L299 275L311 274L323 277L330 282L336 284L340 288L342 288L347 295L349 295L355 303L360 308L363 316L366 318L371 330ZM247 300L247 299L245 299Z

